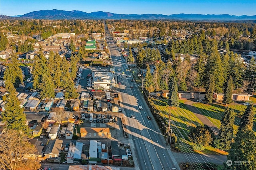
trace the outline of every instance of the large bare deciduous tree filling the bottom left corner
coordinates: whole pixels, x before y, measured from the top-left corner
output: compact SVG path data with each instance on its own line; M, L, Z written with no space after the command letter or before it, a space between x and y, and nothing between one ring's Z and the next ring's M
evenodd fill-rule
M6 130L0 137L0 168L9 170L34 170L41 164L28 154L35 154L36 149L28 142L28 137L17 130Z

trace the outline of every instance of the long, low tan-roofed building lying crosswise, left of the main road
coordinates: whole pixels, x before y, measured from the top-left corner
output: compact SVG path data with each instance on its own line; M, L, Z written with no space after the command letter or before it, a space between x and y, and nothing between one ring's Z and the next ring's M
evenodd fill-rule
M90 128L81 127L80 128L81 138L110 138L111 133L109 128Z

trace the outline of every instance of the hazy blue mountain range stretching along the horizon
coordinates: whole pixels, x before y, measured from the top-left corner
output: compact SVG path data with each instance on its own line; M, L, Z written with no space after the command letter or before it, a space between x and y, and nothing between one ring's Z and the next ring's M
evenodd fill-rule
M0 16L1 19L9 18L7 16ZM29 12L16 19L50 19L50 20L74 20L74 19L130 19L130 20L215 20L215 21L237 21L237 20L256 20L256 15L254 16L235 16L228 14L172 14L172 15L162 15L162 14L114 14L110 12L82 12L82 11L64 11L64 10L40 10Z

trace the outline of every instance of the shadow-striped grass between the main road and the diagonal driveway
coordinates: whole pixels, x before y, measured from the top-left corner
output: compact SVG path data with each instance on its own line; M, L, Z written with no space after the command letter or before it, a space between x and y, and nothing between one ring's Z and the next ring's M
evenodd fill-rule
M191 111L187 109L184 105L185 100L179 100L180 106L178 108L172 107L171 109L171 127L176 136L178 137L178 142L175 144L182 152L191 152L190 145L192 144L188 135L191 127L196 127L198 125L204 125ZM167 105L167 100L165 99L153 99L156 109L160 111L162 117L168 122L170 107ZM227 152L218 150L211 146L206 147L204 154L227 154Z

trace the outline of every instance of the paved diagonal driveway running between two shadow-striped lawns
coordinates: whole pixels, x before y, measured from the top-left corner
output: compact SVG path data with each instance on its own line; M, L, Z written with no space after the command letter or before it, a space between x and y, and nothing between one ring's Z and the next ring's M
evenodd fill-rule
M188 110L192 111L194 115L196 115L196 117L200 119L202 123L204 123L204 125L209 126L213 130L215 135L218 135L219 129L206 116L204 116L196 107L194 107L192 105L193 103L196 103L196 102L190 101L190 100L185 101L185 105L188 108Z

